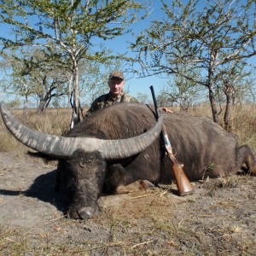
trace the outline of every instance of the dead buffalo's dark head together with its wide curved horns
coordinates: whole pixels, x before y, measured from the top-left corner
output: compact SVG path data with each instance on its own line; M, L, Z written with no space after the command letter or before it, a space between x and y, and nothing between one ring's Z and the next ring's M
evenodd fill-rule
M159 137L163 125L163 119L160 118L153 128L148 131L142 130L138 136L113 139L91 133L86 134L83 131L83 123L80 123L67 137L56 137L33 131L22 125L9 113L3 102L0 104L0 111L4 124L20 143L59 159L58 170L63 174L63 181L70 199L69 216L81 219L91 218L98 212L97 200L102 193L106 162L139 154ZM137 118L140 119L140 117ZM89 119L94 119L93 115ZM127 120L125 128L127 132L131 130L128 125L130 121L134 120ZM83 122L86 122L86 119ZM110 122L111 125L114 131L114 122ZM132 134L133 131L129 132ZM133 132L133 134L138 133Z

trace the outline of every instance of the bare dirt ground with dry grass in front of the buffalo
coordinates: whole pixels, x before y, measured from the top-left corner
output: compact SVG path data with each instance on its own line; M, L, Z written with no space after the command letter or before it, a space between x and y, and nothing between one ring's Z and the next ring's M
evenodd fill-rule
M65 217L56 163L0 153L1 255L256 255L256 177L102 196L100 216Z

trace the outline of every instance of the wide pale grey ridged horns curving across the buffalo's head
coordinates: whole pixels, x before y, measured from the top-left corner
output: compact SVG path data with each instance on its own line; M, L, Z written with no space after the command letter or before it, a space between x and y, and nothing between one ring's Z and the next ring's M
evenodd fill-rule
M57 158L70 157L79 148L86 152L101 151L108 160L129 157L142 152L151 145L159 136L164 122L161 117L150 130L142 135L119 140L102 140L93 137L57 137L34 131L26 125L22 125L9 112L4 102L0 103L0 111L4 124L20 143Z

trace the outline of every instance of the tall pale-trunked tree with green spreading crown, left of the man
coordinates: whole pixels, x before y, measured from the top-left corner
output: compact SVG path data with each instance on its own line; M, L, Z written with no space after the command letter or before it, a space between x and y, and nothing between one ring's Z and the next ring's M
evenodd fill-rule
M59 65L70 72L73 108L79 115L79 62L106 61L107 53L99 44L126 32L143 4L125 0L5 0L0 9L0 22L10 25L15 34L0 38L3 49L38 47L59 58Z

